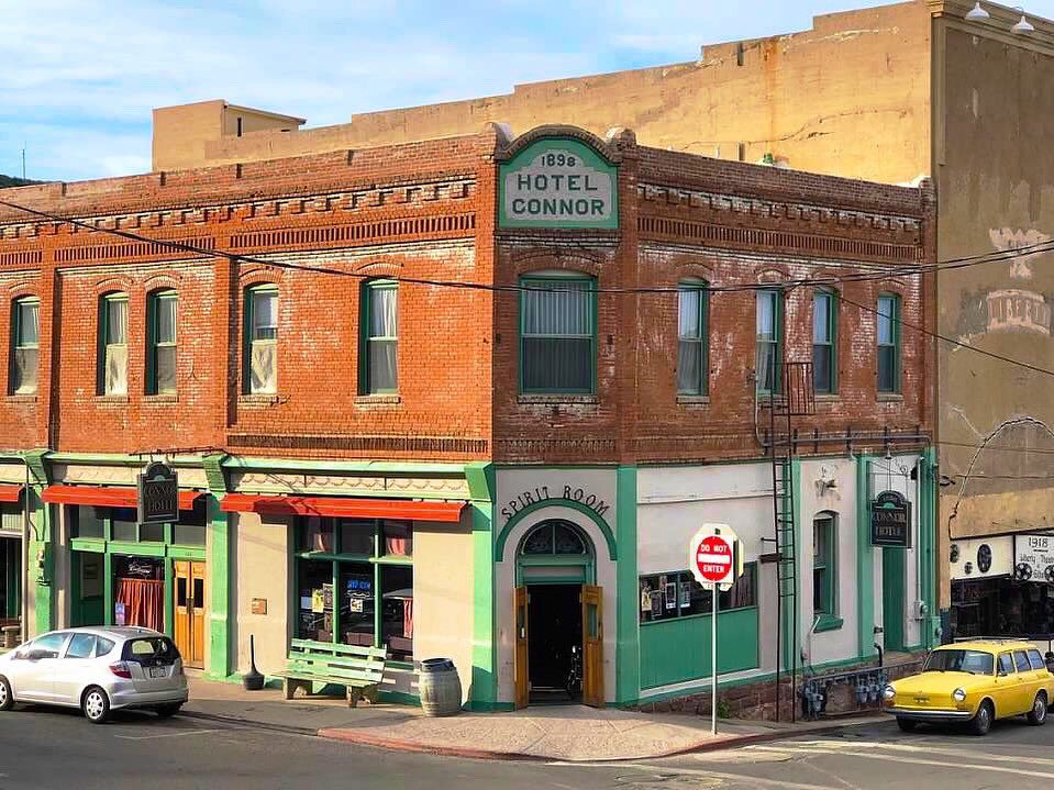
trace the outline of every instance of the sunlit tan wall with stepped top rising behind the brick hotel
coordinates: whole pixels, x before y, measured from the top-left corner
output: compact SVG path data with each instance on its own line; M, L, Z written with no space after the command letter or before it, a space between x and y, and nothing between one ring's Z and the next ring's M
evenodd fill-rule
M887 182L929 174L930 15L923 0L819 16L812 30L706 47L700 60L515 86L503 96L217 135L198 165L568 123L644 145Z

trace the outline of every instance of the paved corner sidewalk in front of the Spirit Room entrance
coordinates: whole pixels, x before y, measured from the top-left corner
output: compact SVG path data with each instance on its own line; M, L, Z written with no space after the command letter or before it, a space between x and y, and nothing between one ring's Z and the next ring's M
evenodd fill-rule
M687 752L837 730L875 719L775 724L721 721L710 734L708 719L645 714L583 705L536 706L514 713L461 713L430 719L409 705L343 699L284 700L280 690L245 691L235 683L190 678L186 715L226 721L403 752L484 759L609 761L668 757Z

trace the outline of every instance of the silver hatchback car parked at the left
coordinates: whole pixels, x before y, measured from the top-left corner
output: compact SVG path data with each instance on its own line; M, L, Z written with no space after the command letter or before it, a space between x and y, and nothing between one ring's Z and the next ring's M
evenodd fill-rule
M0 656L0 711L18 702L63 705L101 724L120 709L170 716L186 701L179 650L149 628L53 631Z

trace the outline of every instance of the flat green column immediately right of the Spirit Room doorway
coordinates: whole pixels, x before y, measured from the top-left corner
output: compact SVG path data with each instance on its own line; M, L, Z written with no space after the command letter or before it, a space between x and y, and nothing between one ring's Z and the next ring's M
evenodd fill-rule
M615 644L615 703L626 705L641 697L640 588L636 574L635 466L615 472L615 530L618 532L618 642Z

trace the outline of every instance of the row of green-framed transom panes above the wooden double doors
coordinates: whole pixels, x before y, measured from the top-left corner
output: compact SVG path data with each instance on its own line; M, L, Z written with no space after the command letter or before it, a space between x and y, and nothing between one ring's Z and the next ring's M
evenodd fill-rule
M162 543L180 546L206 545L206 498L195 500L193 510L179 511L175 524L140 524L135 508L69 508L70 537L107 543Z

